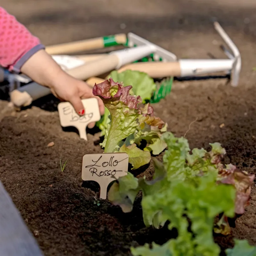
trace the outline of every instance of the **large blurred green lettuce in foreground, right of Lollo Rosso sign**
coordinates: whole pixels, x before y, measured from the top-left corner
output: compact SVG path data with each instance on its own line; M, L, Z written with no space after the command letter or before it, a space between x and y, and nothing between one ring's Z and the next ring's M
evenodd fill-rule
M131 251L134 256L157 253L218 256L220 248L214 243L212 230L229 234L227 218L233 218L241 209L244 211L254 175L238 171L231 164L222 165L226 151L220 143L211 144L210 151L193 149L190 152L185 138L165 133L162 139L167 150L163 163L154 160L153 180L137 179L132 174L119 178L115 187L110 188L109 200L130 212L135 197L142 190L145 225L159 228L170 221L169 229L177 229L178 237L162 246L154 244L152 249L145 245ZM214 225L219 214L222 218Z

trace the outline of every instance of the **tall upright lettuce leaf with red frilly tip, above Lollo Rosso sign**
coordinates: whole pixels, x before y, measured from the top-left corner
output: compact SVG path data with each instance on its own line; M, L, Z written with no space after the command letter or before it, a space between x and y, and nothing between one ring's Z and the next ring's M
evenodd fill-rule
M141 103L141 98L131 95L131 88L123 87L111 78L93 87L93 94L101 98L110 113L110 127L103 141L105 153L117 151L118 143L137 129L137 105Z

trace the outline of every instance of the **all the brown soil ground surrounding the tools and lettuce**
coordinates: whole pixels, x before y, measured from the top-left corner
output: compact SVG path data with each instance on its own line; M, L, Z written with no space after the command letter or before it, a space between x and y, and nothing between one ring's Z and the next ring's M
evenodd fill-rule
M150 0L150 4L148 0L131 0L126 8L127 1L109 1L112 5L95 0L38 0L38 5L32 0L22 1L27 12L21 1L3 2L1 5L46 45L133 31L180 58L209 58L209 52L225 58L209 22L209 17L218 17L242 54L239 86L231 87L223 79L176 81L172 93L155 105L155 113L168 123L169 131L177 136L186 134L190 148L209 148L210 142L218 141L227 150L225 163L256 173L253 1L234 6L233 1L214 0L206 7L198 0L188 7L183 0ZM126 29L121 30L120 23L125 23ZM0 100L0 180L45 256L130 255L131 246L153 241L162 244L177 235L166 228L155 230L143 225L141 195L129 214L107 201L94 204L99 187L82 182L81 166L84 154L102 153L99 133L89 134L85 142L77 133L63 131L52 96L19 113L8 111L6 106L7 102ZM54 142L53 147L47 147L50 142ZM60 159L68 159L63 172ZM150 179L153 173L150 163L135 175ZM254 185L251 197L244 215L234 221L232 234L215 236L222 249L233 246L234 237L256 245Z

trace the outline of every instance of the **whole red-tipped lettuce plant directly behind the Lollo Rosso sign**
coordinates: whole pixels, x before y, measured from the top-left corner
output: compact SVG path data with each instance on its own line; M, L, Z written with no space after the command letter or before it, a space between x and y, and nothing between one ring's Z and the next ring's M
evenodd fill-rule
M141 98L131 94L131 89L132 86L124 87L110 78L95 84L93 94L102 99L110 113L105 122L105 138L101 143L105 153L125 150L129 162L134 169L138 169L149 163L150 151L158 155L166 148L161 136L166 132L167 124L154 116L154 110L148 104L139 108ZM144 151L136 147L141 145L142 140L147 141Z

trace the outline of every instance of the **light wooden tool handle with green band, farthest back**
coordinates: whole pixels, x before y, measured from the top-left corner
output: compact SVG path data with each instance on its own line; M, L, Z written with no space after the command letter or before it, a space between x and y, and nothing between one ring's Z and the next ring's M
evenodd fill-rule
M106 37L111 38L111 37ZM111 41L113 42L113 41ZM111 42L109 44L111 44ZM118 34L114 36L114 42L117 44L125 44L126 43L126 35ZM76 42L57 44L46 47L46 52L53 54L66 54L66 53L75 53L88 51L93 49L101 49L108 44L107 40L104 37L85 39Z

